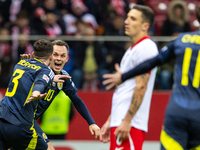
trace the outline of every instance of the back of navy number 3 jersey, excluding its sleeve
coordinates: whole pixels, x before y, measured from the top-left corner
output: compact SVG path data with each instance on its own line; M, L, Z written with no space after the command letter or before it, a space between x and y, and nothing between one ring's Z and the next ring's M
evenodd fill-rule
M8 84L5 97L2 100L6 112L8 112L8 114L14 114L13 116L17 118L17 120L14 121L15 119L11 119L12 117L8 117L6 114L1 117L6 118L6 120L14 124L32 122L38 101L36 100L29 104L26 104L26 101L32 94L34 80L41 68L44 70L46 68L46 70L48 70L46 65L33 59L21 60L18 62Z

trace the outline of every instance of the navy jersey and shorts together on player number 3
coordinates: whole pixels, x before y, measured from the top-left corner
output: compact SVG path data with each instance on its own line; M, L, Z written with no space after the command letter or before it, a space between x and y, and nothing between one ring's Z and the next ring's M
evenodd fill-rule
M47 149L43 138L33 128L39 100L26 104L32 91L44 93L52 83L53 71L40 60L19 61L0 101L0 149ZM38 147L38 143L40 147Z

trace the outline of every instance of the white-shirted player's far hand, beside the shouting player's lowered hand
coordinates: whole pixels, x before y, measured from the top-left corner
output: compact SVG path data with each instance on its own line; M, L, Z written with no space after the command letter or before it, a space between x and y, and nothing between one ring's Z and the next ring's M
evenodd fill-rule
M106 121L100 130L100 141L107 143L110 141L110 122Z

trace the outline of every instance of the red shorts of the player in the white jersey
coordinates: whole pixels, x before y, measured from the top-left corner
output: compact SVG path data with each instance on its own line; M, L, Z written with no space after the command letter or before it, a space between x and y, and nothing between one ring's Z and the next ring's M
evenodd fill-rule
M124 140L121 144L117 144L114 135L116 128L117 127L111 128L110 150L142 150L145 137L144 131L131 127L128 139Z

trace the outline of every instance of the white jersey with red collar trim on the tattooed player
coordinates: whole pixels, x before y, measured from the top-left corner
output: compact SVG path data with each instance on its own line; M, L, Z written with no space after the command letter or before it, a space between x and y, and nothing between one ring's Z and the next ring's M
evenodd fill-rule
M157 54L158 49L156 44L148 36L144 37L127 49L121 60L120 69L122 72L127 72ZM156 71L157 68L151 70L143 101L131 120L132 127L146 132L148 130L149 109ZM129 109L135 87L135 78L130 78L120 84L115 90L112 98L111 127L116 127L121 124Z

